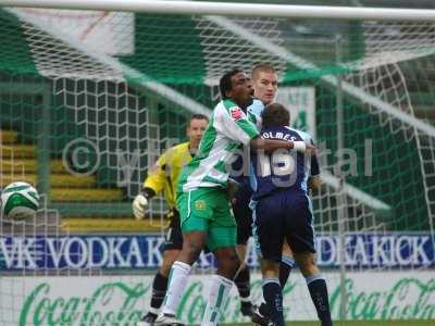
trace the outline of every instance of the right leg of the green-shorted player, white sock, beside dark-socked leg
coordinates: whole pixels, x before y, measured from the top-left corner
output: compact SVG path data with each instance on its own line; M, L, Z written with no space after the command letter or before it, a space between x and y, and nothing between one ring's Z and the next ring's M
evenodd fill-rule
M223 193L224 195L224 193ZM209 227L208 247L217 261L201 325L217 325L228 298L233 279L240 266L236 252L237 228L226 197L216 193L216 206Z

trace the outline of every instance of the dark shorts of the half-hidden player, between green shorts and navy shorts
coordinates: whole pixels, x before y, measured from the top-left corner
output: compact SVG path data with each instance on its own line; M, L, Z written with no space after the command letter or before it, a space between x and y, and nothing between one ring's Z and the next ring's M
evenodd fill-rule
M248 239L252 237L252 211L249 208L249 201L252 197L252 190L249 186L243 186L234 197L233 212L237 223L237 244L247 244Z

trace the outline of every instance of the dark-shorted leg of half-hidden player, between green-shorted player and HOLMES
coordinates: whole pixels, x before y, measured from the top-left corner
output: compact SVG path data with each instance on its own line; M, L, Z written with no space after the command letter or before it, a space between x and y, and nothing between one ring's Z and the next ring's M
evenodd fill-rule
M249 209L251 191L239 189L234 198L233 212L237 223L237 254L240 259L240 268L237 272L234 284L240 297L240 311L244 316L252 315L250 298L250 271L246 264L246 251L249 238L252 236L252 211Z

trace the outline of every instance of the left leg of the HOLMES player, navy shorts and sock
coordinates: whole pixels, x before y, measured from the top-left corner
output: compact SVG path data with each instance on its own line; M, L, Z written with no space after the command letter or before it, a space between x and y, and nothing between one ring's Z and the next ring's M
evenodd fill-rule
M263 297L269 318L274 325L285 325L283 291L278 278L285 235L279 200L279 195L261 199L253 213L253 238L256 241L256 249L261 258L260 265L263 276ZM261 314L253 314L252 322L260 325L268 324L268 319Z

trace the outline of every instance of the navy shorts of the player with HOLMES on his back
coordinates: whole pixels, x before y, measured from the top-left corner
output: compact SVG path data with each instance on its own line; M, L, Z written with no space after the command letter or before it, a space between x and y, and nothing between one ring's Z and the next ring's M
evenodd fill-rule
M256 249L261 258L281 261L284 239L294 252L315 253L311 200L304 192L278 191L261 198L253 221Z

